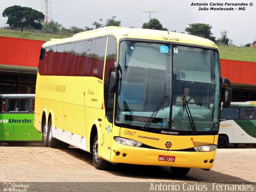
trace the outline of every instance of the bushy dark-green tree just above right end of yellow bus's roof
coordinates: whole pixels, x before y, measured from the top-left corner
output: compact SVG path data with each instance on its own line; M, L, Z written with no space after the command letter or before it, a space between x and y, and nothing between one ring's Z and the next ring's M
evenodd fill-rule
M189 27L185 28L185 31L188 32L188 34L206 38L212 40L213 42L216 42L216 37L212 36L212 26L210 24L192 23L188 25Z

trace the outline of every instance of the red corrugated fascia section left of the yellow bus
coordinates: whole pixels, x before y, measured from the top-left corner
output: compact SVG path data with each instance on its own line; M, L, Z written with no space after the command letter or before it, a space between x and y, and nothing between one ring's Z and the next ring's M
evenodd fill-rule
M0 36L0 64L38 67L44 42Z

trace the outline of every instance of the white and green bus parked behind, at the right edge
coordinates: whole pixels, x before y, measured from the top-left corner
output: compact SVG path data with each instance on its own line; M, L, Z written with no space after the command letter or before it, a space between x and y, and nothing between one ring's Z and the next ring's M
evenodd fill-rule
M256 143L256 102L231 102L222 108L218 148L228 144Z

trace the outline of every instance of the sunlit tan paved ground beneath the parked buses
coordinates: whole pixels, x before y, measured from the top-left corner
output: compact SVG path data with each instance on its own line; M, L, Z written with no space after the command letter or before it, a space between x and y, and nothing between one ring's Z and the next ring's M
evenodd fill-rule
M0 145L0 182L256 182L256 148L218 149L212 170L175 176L169 167L118 164L96 170L78 148Z

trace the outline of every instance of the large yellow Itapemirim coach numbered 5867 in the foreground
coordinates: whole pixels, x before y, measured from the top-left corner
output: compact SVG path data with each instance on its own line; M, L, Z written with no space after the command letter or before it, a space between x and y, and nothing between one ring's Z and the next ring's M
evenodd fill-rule
M183 175L209 170L221 83L229 84L228 107L232 89L210 40L123 27L81 32L43 44L34 126L45 146L92 153L97 169L126 163Z

